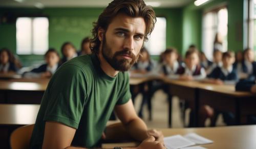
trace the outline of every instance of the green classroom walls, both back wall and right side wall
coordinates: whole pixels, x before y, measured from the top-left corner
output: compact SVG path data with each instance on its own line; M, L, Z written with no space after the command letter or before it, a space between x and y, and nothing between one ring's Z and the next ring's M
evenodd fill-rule
M202 45L202 17L204 10L226 4L228 8L228 49L243 48L243 0L212 0L196 7L193 3L183 8L155 8L156 15L167 21L166 47L176 47L184 55L190 44ZM60 51L65 41L74 43L77 49L85 36L91 35L92 21L97 20L102 8L0 8L0 16L11 13L14 16L49 17L49 47ZM8 47L16 52L15 21L0 24L0 48ZM25 65L43 61L42 56L19 56ZM154 56L154 58L157 58Z

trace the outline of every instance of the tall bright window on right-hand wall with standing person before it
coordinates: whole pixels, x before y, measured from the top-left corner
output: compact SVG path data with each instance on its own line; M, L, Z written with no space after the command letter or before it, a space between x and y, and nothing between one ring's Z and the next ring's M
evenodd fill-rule
M212 59L212 52L214 51L214 41L219 34L222 42L221 51L227 51L227 22L228 13L227 8L220 8L210 11L203 16L203 51L208 59Z

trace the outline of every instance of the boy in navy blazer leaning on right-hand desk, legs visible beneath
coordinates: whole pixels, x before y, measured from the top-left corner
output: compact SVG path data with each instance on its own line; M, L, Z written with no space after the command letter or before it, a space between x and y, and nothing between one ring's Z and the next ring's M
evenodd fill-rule
M238 81L237 70L233 68L234 63L234 53L225 52L222 56L222 67L216 67L210 74L208 74L207 79L204 80L206 83L213 84L235 84ZM217 116L222 113L224 122L227 125L234 124L234 115L231 112L222 112L212 109L208 105L201 107L200 109L200 122L199 126L204 126L206 118L211 118L211 126L216 125Z

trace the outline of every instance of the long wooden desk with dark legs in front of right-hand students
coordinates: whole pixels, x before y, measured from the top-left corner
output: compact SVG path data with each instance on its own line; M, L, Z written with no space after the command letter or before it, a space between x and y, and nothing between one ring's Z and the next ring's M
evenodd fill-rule
M236 124L245 123L245 116L256 115L256 95L245 91L236 91L234 85L215 85L202 83L198 81L180 81L162 79L169 84L169 92L177 95L189 103L189 107L195 110L194 127L198 126L199 108L203 105L209 105L217 110L231 111L236 116ZM168 125L171 127L172 122L172 105L169 102L169 120Z

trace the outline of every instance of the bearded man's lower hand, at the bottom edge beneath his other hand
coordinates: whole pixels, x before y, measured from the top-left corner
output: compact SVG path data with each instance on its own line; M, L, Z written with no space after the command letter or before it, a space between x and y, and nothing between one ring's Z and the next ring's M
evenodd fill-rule
M138 147L137 149L162 149L165 148L164 144L156 141L153 136L149 136L146 138Z

